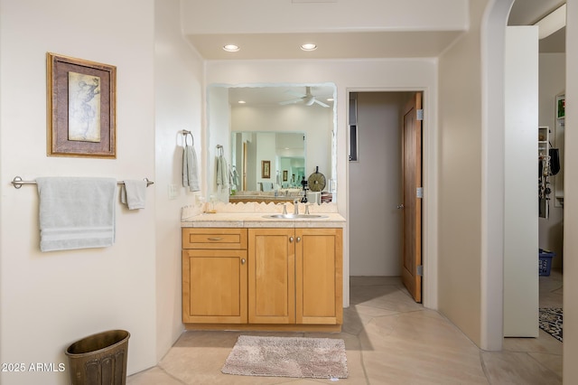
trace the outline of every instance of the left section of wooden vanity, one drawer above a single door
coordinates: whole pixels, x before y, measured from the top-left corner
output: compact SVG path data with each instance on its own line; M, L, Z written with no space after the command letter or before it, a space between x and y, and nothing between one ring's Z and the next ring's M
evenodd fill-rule
M247 229L182 229L182 322L247 324Z

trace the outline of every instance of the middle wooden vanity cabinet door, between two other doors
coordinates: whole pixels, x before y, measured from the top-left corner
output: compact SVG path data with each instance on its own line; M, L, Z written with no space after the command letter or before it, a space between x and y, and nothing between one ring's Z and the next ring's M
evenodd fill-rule
M249 229L248 320L295 323L294 229Z

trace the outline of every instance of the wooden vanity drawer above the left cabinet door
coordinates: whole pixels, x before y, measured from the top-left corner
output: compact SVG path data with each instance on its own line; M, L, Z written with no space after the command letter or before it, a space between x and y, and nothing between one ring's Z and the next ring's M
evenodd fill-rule
M247 249L247 229L182 229L182 249Z

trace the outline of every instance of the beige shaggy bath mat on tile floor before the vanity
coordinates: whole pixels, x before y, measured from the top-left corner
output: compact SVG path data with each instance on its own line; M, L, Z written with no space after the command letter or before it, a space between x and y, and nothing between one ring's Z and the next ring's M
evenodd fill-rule
M343 340L241 335L221 371L242 376L345 379Z

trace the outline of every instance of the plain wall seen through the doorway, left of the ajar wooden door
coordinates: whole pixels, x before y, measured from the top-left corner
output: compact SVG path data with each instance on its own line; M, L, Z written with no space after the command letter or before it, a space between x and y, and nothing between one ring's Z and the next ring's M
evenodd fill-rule
M401 273L405 93L358 92L358 162L350 162L350 275Z

